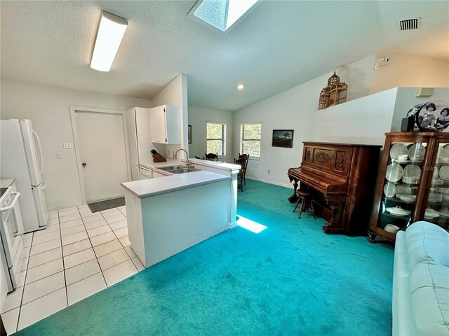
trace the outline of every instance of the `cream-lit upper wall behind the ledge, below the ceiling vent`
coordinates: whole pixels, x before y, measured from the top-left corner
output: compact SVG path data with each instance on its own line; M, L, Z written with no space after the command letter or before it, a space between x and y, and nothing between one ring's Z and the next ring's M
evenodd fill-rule
M389 62L379 64L374 72L371 93L391 87L449 87L447 60L407 54L387 56Z

